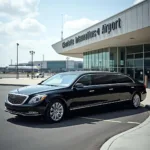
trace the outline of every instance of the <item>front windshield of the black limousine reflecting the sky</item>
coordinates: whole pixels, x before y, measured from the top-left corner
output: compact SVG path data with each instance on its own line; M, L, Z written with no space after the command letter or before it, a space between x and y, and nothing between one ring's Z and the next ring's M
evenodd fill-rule
M42 85L49 86L69 86L78 77L76 74L56 74L47 80L45 80Z

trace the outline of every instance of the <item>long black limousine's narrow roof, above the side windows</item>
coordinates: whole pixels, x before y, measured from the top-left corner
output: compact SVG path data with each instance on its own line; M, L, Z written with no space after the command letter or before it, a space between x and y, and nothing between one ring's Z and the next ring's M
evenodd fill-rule
M76 75L85 75L85 74L101 74L101 75L110 75L110 74L116 74L121 75L121 73L118 72L109 72L109 71L69 71L69 72L63 72L60 74L76 74Z

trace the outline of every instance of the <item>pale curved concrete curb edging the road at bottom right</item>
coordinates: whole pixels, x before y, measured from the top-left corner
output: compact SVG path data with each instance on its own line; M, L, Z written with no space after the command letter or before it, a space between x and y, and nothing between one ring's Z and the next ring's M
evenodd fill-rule
M150 105L145 105L145 107L146 107L147 109L150 109ZM142 127L144 127L144 126L147 125L147 124L150 124L150 116L149 116L144 122L142 122L140 125L138 125L138 126L132 128L132 129L129 129L129 130L127 130L127 131L124 131L124 132L122 132L122 133L119 133L119 134L117 134L117 135L111 137L110 139L108 139L108 140L102 145L102 147L100 148L100 150L111 150L112 144L113 144L117 139L119 139L121 136L124 136L124 135L126 135L126 134L128 134L128 133L134 132L134 131L136 131L136 130L142 128Z

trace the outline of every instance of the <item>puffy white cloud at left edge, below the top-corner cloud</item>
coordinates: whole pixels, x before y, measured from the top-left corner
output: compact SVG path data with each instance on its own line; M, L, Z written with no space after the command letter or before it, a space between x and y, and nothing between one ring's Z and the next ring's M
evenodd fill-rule
M30 35L37 35L45 32L46 27L33 18L26 18L24 20L14 20L7 23L0 22L0 33L3 35L15 35L20 32L29 33Z

